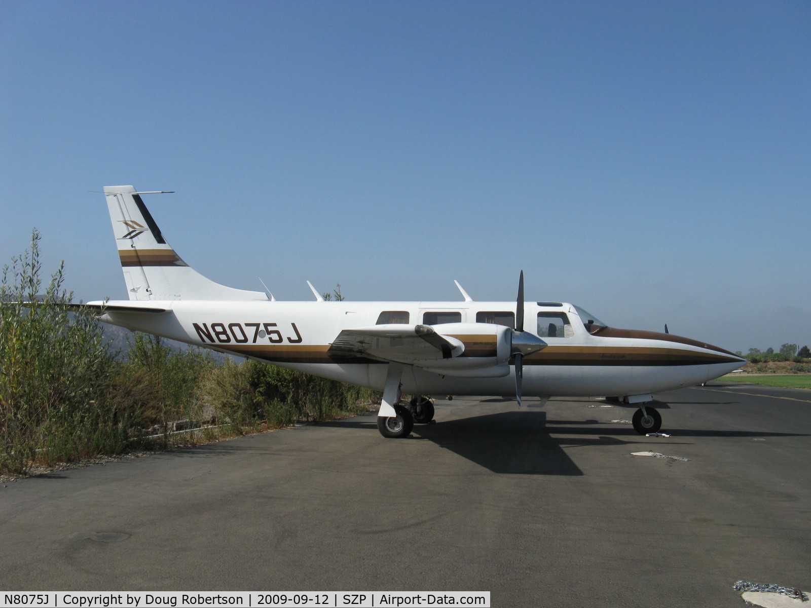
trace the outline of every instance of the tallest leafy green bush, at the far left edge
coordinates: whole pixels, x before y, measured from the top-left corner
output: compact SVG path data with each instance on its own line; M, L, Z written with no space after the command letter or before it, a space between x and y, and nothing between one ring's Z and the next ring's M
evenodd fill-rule
M0 470L24 473L36 456L53 461L121 448L105 396L114 373L98 320L67 311L60 264L44 295L40 235L12 259L0 284ZM107 428L111 433L100 433Z

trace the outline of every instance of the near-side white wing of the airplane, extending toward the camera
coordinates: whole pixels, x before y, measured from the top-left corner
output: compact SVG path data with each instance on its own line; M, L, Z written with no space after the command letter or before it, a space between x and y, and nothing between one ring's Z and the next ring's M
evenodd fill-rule
M465 350L460 340L440 336L428 325L373 325L345 329L328 349L332 355L369 357L378 361L414 364L457 357Z

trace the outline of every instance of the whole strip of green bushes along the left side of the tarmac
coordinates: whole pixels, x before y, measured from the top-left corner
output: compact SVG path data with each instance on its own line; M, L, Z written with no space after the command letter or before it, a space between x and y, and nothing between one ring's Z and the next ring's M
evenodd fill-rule
M2 272L0 473L324 421L362 413L380 395L266 363L217 362L138 332L120 357L93 311L68 311L62 265L39 295L39 241L35 230ZM197 426L206 430L172 434Z

